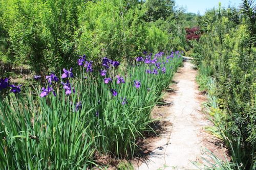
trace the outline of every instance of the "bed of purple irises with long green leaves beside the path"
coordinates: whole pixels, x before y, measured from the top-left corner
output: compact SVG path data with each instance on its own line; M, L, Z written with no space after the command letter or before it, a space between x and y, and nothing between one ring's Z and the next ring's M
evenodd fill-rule
M145 54L125 67L105 57L98 71L80 56L79 74L63 69L47 84L9 87L1 79L0 168L86 169L95 152L132 157L181 62L179 52Z

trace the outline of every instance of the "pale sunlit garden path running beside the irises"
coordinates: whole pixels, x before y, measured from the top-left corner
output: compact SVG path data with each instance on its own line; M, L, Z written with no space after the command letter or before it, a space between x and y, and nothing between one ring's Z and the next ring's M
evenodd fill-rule
M173 105L163 108L164 119L172 126L157 140L150 141L152 152L136 169L198 169L191 161L200 162L203 149L221 155L213 137L204 131L211 124L201 112L206 98L198 90L196 74L188 60L176 73L172 86L175 92L164 98Z

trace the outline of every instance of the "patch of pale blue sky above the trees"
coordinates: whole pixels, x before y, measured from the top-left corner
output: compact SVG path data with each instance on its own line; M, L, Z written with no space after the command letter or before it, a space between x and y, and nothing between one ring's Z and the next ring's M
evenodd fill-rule
M218 7L219 2L223 7L229 4L238 7L242 3L241 0L176 0L176 5L185 8L186 12L197 14L200 11L200 14L204 14L206 9Z

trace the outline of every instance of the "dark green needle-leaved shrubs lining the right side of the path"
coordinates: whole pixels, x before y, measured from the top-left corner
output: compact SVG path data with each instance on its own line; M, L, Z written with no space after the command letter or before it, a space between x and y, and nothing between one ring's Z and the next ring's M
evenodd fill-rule
M199 21L204 35L194 44L197 80L208 93L210 131L227 145L232 161L215 169L255 169L255 3L243 1L240 11L220 6Z

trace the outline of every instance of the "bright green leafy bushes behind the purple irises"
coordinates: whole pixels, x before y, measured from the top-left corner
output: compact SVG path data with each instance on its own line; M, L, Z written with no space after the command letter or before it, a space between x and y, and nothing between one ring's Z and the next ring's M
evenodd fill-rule
M45 76L80 54L98 62L182 51L181 18L170 0L1 0L0 76L24 67Z

